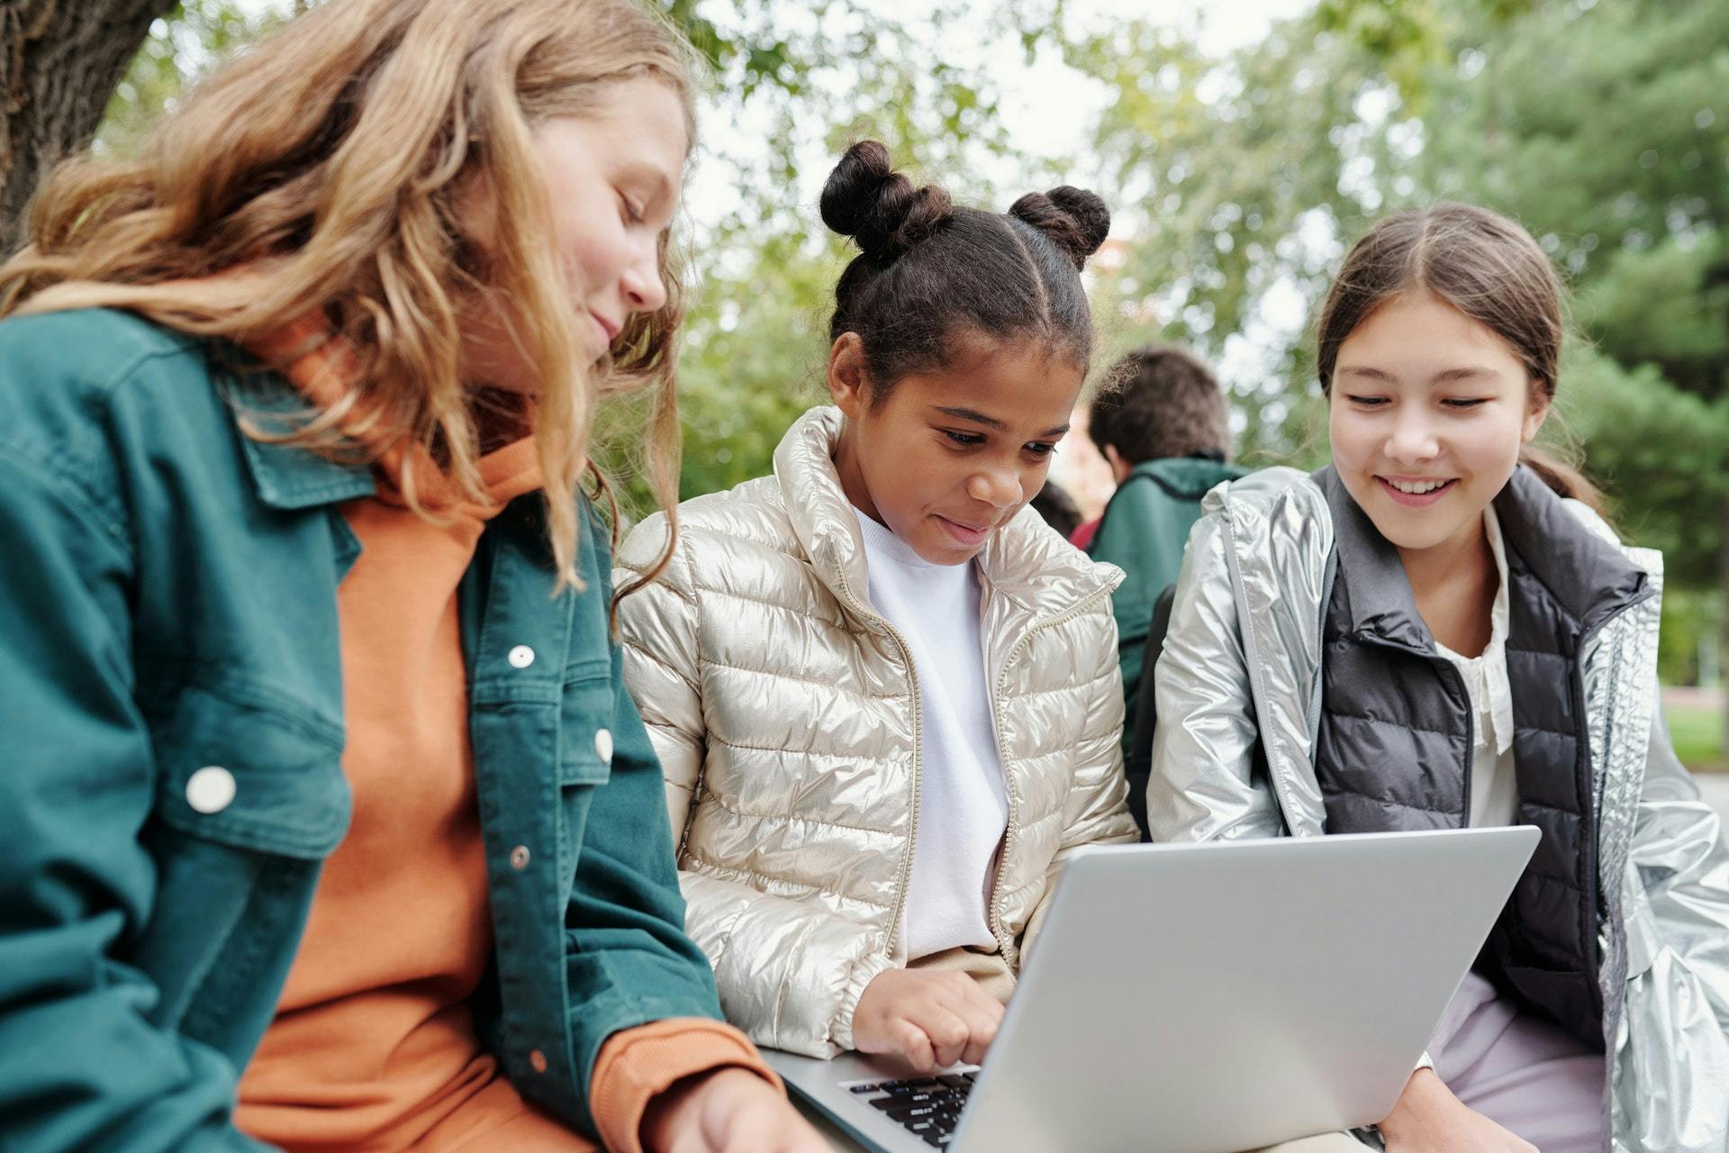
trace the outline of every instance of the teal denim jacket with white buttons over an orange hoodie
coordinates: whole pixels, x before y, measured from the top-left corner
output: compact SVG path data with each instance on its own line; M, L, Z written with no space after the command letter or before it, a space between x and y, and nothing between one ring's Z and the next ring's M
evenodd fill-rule
M5 1153L263 1148L235 1082L348 826L337 501L373 486L246 437L237 403L294 401L237 363L123 313L0 323ZM719 1004L584 512L583 593L553 595L531 494L458 596L496 942L475 1020L524 1096L593 1132L607 1035ZM209 766L235 788L201 811Z

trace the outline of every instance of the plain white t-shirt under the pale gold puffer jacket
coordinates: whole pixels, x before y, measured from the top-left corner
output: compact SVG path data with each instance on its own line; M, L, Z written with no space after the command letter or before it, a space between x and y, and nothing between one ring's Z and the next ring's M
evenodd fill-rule
M858 510L854 510L858 512ZM1008 792L996 748L979 633L975 565L934 565L858 513L870 602L913 653L918 674L920 787L906 954L996 947L989 901Z

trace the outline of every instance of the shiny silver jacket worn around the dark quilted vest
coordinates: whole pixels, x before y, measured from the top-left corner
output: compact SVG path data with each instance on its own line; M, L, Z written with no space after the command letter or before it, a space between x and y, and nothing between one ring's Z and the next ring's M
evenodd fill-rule
M1613 539L1584 505L1568 506ZM1662 555L1624 551L1660 588ZM1207 496L1157 669L1155 840L1324 831L1312 764L1331 555L1326 498L1300 472L1271 468ZM1605 1103L1617 1153L1724 1153L1729 850L1668 743L1656 626L1651 596L1580 653L1599 797L1598 980L1613 1037ZM1266 778L1250 771L1257 740Z

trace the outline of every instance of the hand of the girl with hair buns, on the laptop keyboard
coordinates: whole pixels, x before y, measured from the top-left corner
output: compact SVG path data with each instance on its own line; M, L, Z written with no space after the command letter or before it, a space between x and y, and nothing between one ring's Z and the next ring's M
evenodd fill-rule
M892 968L864 987L852 1013L852 1044L928 1073L982 1061L1001 1022L1003 1004L967 973Z

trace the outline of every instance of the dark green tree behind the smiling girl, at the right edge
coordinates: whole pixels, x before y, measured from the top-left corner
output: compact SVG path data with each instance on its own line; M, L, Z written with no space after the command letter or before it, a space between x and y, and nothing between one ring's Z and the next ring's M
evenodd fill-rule
M1672 583L1729 588L1729 10L1551 3L1456 59L1418 185L1511 213L1572 273L1587 467Z

